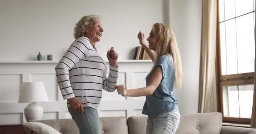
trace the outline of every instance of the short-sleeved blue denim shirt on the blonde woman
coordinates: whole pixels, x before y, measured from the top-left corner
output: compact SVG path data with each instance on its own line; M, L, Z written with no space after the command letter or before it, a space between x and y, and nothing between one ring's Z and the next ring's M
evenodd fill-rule
M146 114L149 117L155 117L161 113L178 109L178 103L173 94L175 81L175 66L173 63L173 57L168 55L158 57L153 70L147 75L147 86L149 85L149 80L155 67L157 66L162 68L162 80L154 93L146 96L146 101L142 110L142 114Z

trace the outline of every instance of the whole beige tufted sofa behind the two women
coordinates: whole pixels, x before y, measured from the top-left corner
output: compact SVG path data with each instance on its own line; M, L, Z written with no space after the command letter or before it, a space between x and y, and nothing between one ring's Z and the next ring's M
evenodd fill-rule
M79 134L72 119L41 120L61 134ZM145 134L147 117L101 117L102 134ZM176 134L256 134L256 129L222 126L221 113L181 115Z

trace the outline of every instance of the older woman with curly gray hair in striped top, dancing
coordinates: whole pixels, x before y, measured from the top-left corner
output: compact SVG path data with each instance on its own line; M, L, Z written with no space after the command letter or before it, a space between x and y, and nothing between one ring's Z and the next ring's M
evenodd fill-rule
M107 77L107 66L95 49L95 43L100 41L104 31L99 16L83 16L74 30L75 41L55 68L57 81L80 134L101 134L97 109L102 88L115 91L118 55L113 48L107 52Z

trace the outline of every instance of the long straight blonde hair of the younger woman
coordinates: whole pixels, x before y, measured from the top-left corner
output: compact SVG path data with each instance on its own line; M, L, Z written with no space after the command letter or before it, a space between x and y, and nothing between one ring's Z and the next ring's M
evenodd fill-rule
M181 57L179 53L179 48L177 46L177 42L173 31L169 26L165 26L162 23L155 23L152 27L152 31L154 36L156 37L158 43L156 46L156 57L155 63L157 62L158 57L167 54L169 55L169 59L173 57L174 67L175 67L175 87L181 88L182 84L182 65L181 65Z

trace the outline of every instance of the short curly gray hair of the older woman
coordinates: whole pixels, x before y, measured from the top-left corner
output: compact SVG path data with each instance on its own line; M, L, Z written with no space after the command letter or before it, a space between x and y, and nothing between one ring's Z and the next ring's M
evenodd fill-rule
M85 36L85 26L90 26L91 22L98 21L101 24L101 17L99 15L87 15L83 16L76 24L74 28L75 39Z

